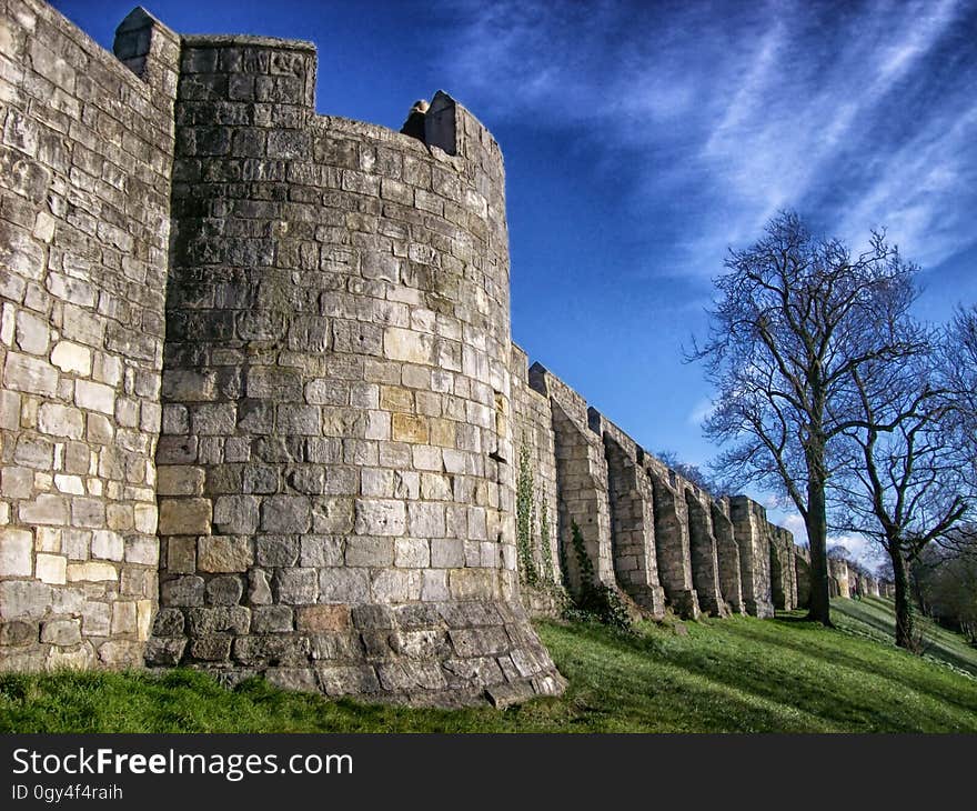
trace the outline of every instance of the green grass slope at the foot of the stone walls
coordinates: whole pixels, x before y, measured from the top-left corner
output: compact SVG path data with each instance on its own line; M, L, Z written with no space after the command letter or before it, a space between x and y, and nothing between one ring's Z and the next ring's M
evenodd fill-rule
M977 651L936 629L930 655L945 661L914 657L884 635L886 601L834 608L838 630L799 612L687 623L687 635L543 622L570 689L505 711L329 701L256 680L229 691L183 670L7 674L0 732L977 731L977 679L960 672Z

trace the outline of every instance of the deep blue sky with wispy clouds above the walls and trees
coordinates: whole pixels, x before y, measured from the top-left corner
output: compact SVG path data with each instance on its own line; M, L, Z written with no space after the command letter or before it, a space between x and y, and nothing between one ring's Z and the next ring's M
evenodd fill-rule
M924 318L977 301L973 0L145 2L183 33L314 41L323 113L469 107L506 161L514 339L649 450L714 454L682 346L778 209L853 244L887 227ZM53 4L107 47L132 6Z

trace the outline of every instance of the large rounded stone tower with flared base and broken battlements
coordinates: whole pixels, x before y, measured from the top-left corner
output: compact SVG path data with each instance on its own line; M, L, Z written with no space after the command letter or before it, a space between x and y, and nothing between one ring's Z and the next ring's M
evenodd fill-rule
M311 43L183 37L151 664L507 701L517 599L502 154L314 112Z

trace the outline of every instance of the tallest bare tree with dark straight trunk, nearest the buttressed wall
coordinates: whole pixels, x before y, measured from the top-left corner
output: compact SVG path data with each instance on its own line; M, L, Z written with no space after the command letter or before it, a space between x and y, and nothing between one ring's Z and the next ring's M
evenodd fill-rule
M793 212L774 218L753 247L731 251L725 266L708 340L689 354L718 392L704 423L727 445L714 467L796 505L810 544L808 617L830 624L826 487L852 419L850 377L914 351L888 327L913 301L917 268L883 233L853 254L813 237Z

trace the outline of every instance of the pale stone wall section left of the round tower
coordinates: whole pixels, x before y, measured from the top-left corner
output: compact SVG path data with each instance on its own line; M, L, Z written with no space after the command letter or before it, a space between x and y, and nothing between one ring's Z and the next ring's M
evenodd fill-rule
M2 7L0 668L139 664L179 40L135 11L123 64L44 3Z

